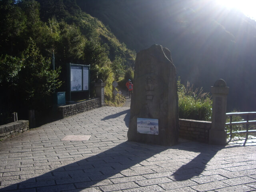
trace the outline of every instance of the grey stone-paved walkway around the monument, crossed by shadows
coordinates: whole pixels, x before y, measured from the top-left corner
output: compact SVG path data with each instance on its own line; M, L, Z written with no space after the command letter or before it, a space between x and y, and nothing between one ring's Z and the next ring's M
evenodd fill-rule
M256 191L255 145L128 142L129 112L102 107L1 141L0 191Z

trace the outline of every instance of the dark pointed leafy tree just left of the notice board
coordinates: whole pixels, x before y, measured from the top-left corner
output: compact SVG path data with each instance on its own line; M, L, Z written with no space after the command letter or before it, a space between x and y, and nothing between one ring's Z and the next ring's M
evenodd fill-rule
M19 93L30 109L42 109L50 106L46 99L62 82L58 81L60 68L52 70L51 60L44 58L36 44L30 40L28 48L22 54L23 67L18 73Z

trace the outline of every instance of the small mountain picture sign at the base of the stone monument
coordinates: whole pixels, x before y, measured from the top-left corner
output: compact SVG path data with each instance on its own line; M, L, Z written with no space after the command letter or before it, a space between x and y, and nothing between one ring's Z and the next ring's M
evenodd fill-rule
M137 132L158 135L158 119L137 118Z

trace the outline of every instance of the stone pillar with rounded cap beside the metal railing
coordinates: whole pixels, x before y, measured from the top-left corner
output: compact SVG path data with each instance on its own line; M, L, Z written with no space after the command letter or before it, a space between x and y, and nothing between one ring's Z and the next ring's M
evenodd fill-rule
M212 128L209 133L209 143L226 145L225 131L226 107L229 87L223 79L219 79L211 88L212 92Z

